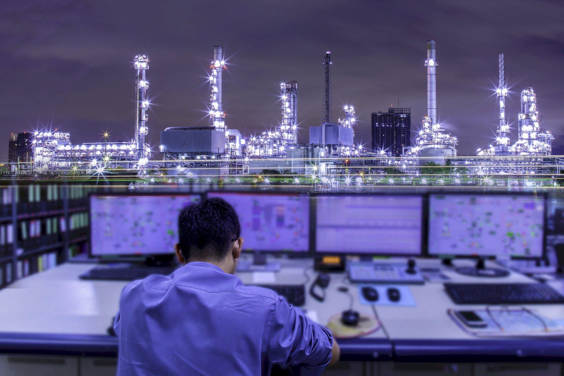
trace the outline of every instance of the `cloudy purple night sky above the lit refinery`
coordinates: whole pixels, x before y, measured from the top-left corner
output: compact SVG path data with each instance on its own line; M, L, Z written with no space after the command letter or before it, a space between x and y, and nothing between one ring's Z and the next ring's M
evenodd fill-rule
M133 137L133 57L148 54L148 142L169 126L208 125L209 63L222 45L226 125L249 136L280 120L279 83L298 81L298 141L319 125L323 56L332 52L335 120L352 104L355 142L371 147L371 113L426 113L425 42L437 41L439 122L474 155L495 139L497 57L517 139L519 94L537 92L541 130L564 152L564 6L560 1L3 1L0 161L10 132L68 131L73 143ZM153 158L158 154L153 154Z

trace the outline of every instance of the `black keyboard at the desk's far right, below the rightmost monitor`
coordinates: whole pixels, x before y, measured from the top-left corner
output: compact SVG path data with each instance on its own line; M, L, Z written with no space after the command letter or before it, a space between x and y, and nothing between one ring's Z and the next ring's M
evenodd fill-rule
M456 304L558 304L564 297L547 284L444 284Z

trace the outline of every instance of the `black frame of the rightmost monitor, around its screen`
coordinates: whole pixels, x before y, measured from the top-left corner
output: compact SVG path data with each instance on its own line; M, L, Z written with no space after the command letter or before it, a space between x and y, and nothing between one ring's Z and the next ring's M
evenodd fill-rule
M438 258L438 259L484 259L484 260L495 260L497 258L499 258L500 255L453 255L453 254L448 254L448 253L437 253L437 254L433 254L430 253L430 249L429 249L429 231L431 228L431 223L430 223L430 214L431 214L431 196L476 196L476 195L481 195L481 196L491 196L491 197L495 197L495 196L522 196L522 197L531 197L534 198L534 196L536 195L537 198L541 198L543 200L543 207L544 207L544 215L543 215L543 242L542 242L542 249L541 249L541 255L537 256L537 257L528 257L528 256L514 256L511 255L509 256L509 259L512 260L541 260L541 259L545 259L546 258L546 253L547 253L547 194L545 192L481 192L481 193L476 193L476 192L442 192L442 193L428 193L427 196L427 218L426 218L426 240L427 240L427 244L425 245L425 256L428 258Z

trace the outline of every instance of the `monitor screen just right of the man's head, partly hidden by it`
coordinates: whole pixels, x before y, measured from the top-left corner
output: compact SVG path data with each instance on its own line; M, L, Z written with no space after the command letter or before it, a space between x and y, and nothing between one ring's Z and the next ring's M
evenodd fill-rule
M309 251L309 197L239 192L208 192L208 197L223 198L239 215L243 250Z

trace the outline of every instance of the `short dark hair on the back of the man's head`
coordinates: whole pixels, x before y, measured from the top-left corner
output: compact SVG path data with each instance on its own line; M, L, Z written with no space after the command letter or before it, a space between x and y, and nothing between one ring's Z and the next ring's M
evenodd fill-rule
M186 260L220 262L240 236L237 213L221 198L188 205L178 217L178 243Z

